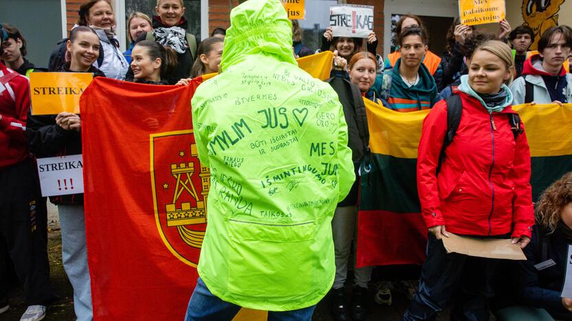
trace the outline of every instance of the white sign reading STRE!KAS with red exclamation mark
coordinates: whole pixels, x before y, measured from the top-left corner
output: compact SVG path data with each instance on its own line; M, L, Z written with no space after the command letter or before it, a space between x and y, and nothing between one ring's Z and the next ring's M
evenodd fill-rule
M367 38L373 31L373 6L333 5L330 26L335 37Z

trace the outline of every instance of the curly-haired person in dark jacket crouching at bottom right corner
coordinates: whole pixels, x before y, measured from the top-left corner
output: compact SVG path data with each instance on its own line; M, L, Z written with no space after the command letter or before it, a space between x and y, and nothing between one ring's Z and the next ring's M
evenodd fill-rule
M532 239L524 249L527 261L515 261L511 268L514 303L544 309L555 319L572 320L572 298L560 295L569 259L568 246L572 243L572 171L542 193L535 216ZM510 309L501 309L496 314L508 319ZM526 311L512 308L518 310Z

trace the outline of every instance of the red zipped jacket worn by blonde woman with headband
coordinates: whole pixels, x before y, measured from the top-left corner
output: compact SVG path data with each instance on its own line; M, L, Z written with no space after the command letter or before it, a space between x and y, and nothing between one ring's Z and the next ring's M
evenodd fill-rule
M423 121L417 189L428 227L445 225L463 235L531 236L534 224L530 151L525 133L516 141L507 114L489 115L481 102L459 93L461 122L435 171L447 131L447 104L435 104ZM522 126L522 124L521 124Z

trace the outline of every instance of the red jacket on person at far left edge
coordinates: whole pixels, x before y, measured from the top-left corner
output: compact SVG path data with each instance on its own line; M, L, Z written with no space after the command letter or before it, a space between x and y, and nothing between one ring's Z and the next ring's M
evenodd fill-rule
M30 109L28 78L0 62L0 169L30 157L26 117Z

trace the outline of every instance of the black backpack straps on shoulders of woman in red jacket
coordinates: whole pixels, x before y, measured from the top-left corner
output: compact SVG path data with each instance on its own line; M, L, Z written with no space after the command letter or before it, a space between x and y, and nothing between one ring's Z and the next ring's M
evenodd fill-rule
M441 147L437 173L439 173L439 169L441 169L441 163L445 157L445 149L452 143L456 130L459 128L459 123L461 123L461 113L463 112L461 96L456 93L447 97L445 99L445 103L447 103L447 133L445 134L445 139L443 139L443 147ZM516 140L518 135L522 134L523 131L522 128L520 128L520 117L518 114L507 114L507 116L512 134Z

